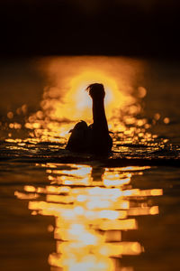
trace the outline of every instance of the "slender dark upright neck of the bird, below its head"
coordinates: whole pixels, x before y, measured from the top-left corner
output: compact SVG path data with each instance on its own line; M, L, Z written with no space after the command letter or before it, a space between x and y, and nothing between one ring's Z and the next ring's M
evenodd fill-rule
M95 129L108 131L103 98L93 99L93 119Z

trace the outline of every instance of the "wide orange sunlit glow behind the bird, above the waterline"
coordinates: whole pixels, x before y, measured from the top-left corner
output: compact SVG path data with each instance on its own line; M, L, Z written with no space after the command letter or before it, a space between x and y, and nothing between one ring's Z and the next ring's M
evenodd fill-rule
M140 105L135 105L137 98L131 94L134 81L138 79L139 71L143 73L143 68L143 61L117 57L46 58L41 62L40 70L52 79L52 85L44 88L40 110L29 117L25 126L34 131L31 136L37 142L65 143L75 121L92 122L92 100L85 89L89 84L99 82L103 83L106 92L109 128L126 130L128 119L135 123L133 116L140 111ZM147 90L139 86L137 93L138 98L144 98Z

